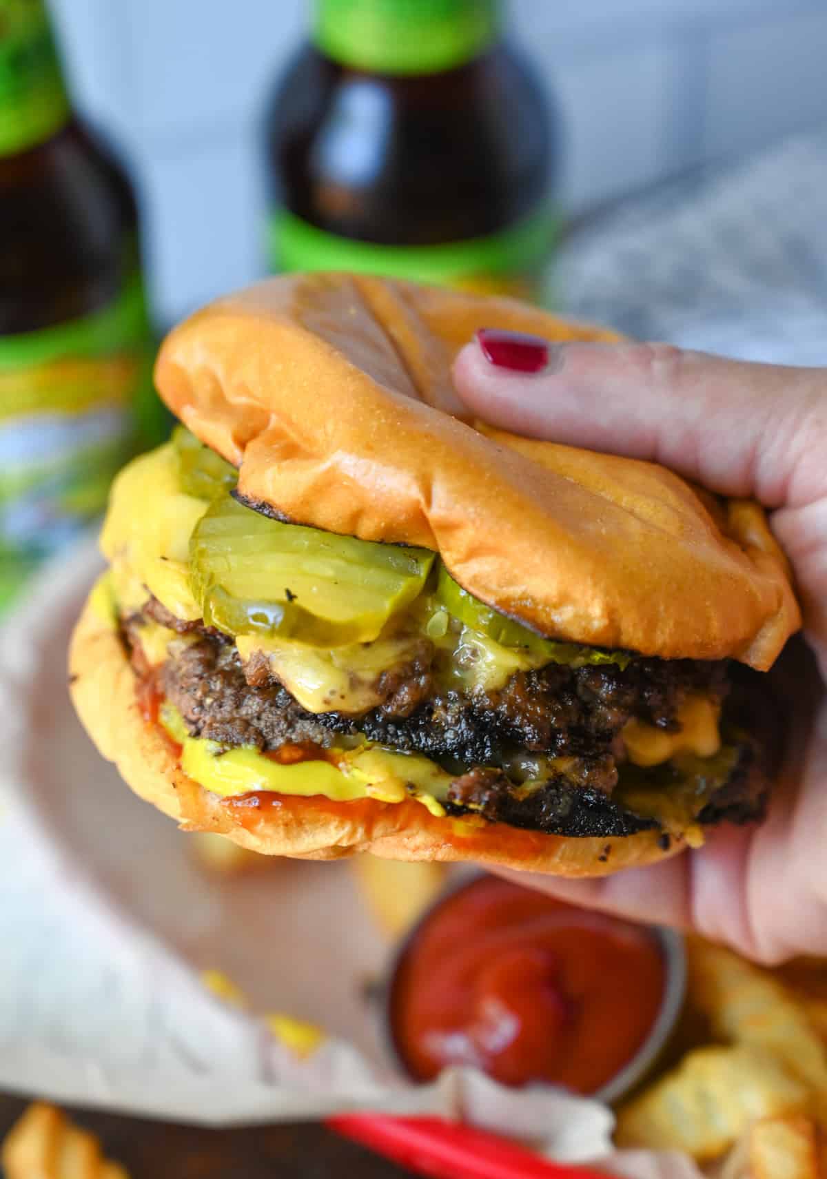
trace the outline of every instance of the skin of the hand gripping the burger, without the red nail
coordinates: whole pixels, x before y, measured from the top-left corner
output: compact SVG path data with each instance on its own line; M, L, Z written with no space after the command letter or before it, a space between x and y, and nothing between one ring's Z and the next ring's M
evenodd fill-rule
M527 342L531 347L531 342ZM537 342L537 348L543 348ZM457 358L468 408L531 437L661 462L768 509L802 604L803 641L773 671L787 759L760 825L604 880L513 878L578 904L694 929L763 962L827 955L827 369L728 361L668 344L547 345L537 373Z

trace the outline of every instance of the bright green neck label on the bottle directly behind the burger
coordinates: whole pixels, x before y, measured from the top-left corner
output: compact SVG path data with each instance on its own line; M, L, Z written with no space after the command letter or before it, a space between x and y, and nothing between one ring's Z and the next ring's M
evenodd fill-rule
M499 33L499 0L315 0L316 47L369 73L442 73L484 53Z

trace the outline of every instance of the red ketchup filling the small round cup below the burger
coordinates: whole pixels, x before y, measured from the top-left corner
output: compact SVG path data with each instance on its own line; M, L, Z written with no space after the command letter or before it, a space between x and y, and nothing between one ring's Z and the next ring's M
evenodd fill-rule
M413 935L394 976L392 1034L418 1080L473 1065L504 1085L595 1093L643 1046L665 981L644 927L484 877Z

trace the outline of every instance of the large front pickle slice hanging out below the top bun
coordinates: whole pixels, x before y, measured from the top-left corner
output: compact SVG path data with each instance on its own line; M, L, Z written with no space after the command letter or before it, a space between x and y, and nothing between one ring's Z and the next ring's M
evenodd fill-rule
M311 646L372 643L425 586L434 554L282 523L215 499L190 540L204 621Z

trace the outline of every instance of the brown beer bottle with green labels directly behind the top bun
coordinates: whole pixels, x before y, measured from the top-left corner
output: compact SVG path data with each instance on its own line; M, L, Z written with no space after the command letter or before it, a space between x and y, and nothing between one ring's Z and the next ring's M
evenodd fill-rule
M316 0L267 120L273 270L536 295L557 126L495 0Z

